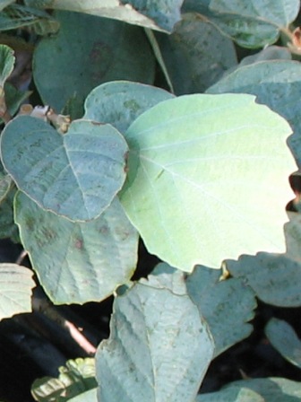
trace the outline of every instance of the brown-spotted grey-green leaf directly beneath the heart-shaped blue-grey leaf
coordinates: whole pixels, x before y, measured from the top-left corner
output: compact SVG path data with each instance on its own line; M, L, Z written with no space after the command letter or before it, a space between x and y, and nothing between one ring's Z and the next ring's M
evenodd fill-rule
M19 193L15 221L39 282L56 304L101 301L133 275L138 235L117 199L98 219L73 223Z

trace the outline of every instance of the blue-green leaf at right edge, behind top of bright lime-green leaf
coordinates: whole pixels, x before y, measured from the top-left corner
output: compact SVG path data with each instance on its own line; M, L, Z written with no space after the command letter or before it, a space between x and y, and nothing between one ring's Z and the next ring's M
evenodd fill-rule
M257 101L269 106L294 130L288 145L301 167L301 66L296 61L262 61L238 68L219 83L211 86L208 93L251 93Z

